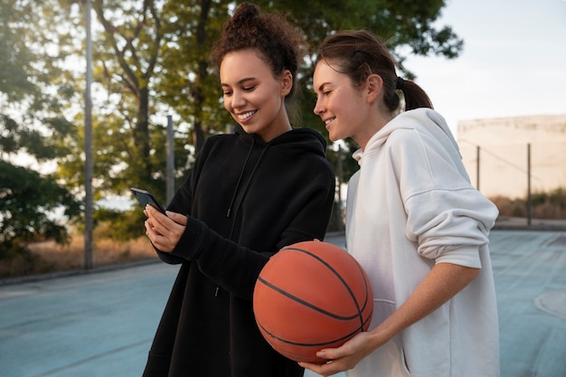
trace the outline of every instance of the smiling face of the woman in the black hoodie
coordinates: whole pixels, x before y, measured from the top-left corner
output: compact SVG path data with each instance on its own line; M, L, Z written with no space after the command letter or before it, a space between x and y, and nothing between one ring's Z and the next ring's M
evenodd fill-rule
M285 108L293 84L289 71L276 78L258 52L242 50L224 56L220 80L224 108L248 134L269 142L291 129Z

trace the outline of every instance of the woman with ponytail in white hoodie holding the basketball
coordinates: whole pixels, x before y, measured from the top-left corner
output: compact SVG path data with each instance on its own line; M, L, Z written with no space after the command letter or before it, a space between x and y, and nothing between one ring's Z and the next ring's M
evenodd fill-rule
M499 375L488 249L497 209L469 182L458 145L424 90L403 80L372 33L319 48L315 113L335 141L352 137L346 245L373 288L370 329L323 349L323 376ZM404 102L404 106L403 106Z

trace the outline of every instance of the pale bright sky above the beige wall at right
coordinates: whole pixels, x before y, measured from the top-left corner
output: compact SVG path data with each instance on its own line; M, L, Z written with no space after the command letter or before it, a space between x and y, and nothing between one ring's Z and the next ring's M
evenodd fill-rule
M565 0L447 0L438 25L464 40L454 60L409 57L435 109L458 121L566 114Z

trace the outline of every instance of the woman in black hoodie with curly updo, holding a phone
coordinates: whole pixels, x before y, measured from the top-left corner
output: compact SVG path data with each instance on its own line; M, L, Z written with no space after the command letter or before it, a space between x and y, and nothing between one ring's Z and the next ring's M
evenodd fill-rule
M239 5L212 50L235 133L209 137L166 214L146 208L146 234L180 264L145 377L300 377L304 369L259 333L259 272L278 250L322 240L335 175L325 138L293 127L304 43L278 14Z

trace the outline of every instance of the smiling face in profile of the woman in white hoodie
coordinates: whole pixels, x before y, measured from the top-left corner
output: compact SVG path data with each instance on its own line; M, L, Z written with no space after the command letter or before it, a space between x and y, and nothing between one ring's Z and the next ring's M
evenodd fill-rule
M332 141L352 137L358 145L365 146L375 132L375 107L367 87L355 88L347 75L335 71L325 61L316 64L313 86L314 112L325 122L328 137Z

